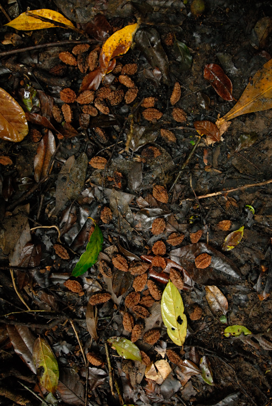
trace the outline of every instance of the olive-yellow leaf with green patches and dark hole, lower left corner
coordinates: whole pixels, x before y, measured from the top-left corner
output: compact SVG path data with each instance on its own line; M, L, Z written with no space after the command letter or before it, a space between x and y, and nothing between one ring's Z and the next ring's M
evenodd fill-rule
M58 363L53 351L45 339L33 344L33 362L37 368L38 381L48 392L54 393L58 385Z

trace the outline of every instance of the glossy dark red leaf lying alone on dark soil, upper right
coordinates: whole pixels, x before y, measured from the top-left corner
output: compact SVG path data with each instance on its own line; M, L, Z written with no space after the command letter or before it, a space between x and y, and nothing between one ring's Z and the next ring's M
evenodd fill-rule
M232 97L232 83L222 67L216 63L209 63L204 69L204 79L211 83L216 93L224 100L234 100Z

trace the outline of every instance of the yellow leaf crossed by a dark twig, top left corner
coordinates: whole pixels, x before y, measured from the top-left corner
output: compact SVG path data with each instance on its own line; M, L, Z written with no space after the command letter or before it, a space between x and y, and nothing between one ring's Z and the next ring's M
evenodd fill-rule
M69 25L71 28L75 28L74 24L67 20L67 18L63 17L62 14L58 13L57 11L49 10L49 9L40 9L40 10L32 10L29 11L31 14L36 14L40 17L48 18L49 20L53 20L54 22L50 23L47 21L42 21L38 18L32 17L27 15L26 13L20 14L14 20L8 22L10 27L20 29L23 31L31 31L33 29L42 29L42 28L52 28L58 26L58 22L61 24Z

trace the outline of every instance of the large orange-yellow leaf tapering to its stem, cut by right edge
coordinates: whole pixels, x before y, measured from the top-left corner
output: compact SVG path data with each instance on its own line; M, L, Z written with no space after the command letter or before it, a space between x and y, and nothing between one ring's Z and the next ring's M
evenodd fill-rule
M224 117L217 120L221 127L225 121L246 113L254 113L272 108L272 59L253 76L235 106Z

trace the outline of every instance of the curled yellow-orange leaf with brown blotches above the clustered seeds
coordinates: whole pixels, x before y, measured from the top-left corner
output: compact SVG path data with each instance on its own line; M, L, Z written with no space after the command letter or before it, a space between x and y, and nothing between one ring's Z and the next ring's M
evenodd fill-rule
M99 65L103 75L106 75L107 72L109 73L108 67L111 59L123 55L129 50L138 26L138 23L126 25L124 28L114 32L105 42L99 55Z

